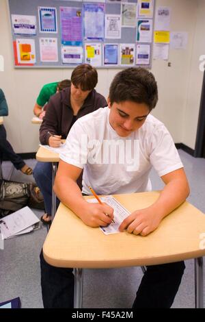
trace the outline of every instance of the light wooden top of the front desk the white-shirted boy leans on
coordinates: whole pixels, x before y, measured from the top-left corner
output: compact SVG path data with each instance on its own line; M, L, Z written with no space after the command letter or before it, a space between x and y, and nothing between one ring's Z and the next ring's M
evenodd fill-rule
M115 195L131 212L152 204L159 192ZM44 258L55 267L111 268L176 262L205 255L200 234L205 215L188 202L165 217L148 236L127 232L105 235L88 227L60 204L44 242ZM204 242L205 244L205 242Z

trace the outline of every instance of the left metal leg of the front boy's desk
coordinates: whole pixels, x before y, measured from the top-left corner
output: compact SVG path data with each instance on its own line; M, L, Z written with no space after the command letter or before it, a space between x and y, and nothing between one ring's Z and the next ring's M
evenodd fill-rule
M74 269L74 308L83 306L83 269Z

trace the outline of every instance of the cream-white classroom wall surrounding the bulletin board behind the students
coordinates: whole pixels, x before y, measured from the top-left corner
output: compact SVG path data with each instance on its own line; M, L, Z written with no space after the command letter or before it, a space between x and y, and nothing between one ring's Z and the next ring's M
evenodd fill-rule
M171 8L172 31L188 32L189 43L185 50L169 51L171 67L164 61L152 63L152 73L159 86L159 103L152 114L165 123L176 143L182 142L191 148L195 143L203 76L198 70L196 71L197 54L202 51L200 40L203 36L202 19L205 13L203 2L203 0L156 1L156 5ZM9 117L5 118L8 139L18 153L37 151L39 125L32 125L31 118L38 92L46 83L70 78L72 70L14 69L7 0L0 0L0 44L0 55L3 55L5 60L5 71L0 72L0 87L5 92L10 109ZM105 97L108 95L109 84L118 71L98 70L99 82L96 89ZM193 112L195 112L194 122Z

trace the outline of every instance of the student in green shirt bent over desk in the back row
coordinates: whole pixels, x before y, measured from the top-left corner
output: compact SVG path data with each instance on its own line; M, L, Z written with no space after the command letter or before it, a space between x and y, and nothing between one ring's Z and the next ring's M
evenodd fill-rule
M38 99L36 100L36 104L33 108L33 113L42 119L45 115L44 106L48 103L50 97L63 88L70 87L70 84L71 82L69 79L64 79L61 82L45 84L40 90L40 94L38 95Z

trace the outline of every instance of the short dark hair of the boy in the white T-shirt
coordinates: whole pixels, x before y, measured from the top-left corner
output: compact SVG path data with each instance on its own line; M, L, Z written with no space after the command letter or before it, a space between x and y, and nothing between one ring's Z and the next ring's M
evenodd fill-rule
M111 82L109 99L111 105L114 102L120 103L122 101L145 103L151 111L158 101L154 75L141 67L120 71Z

